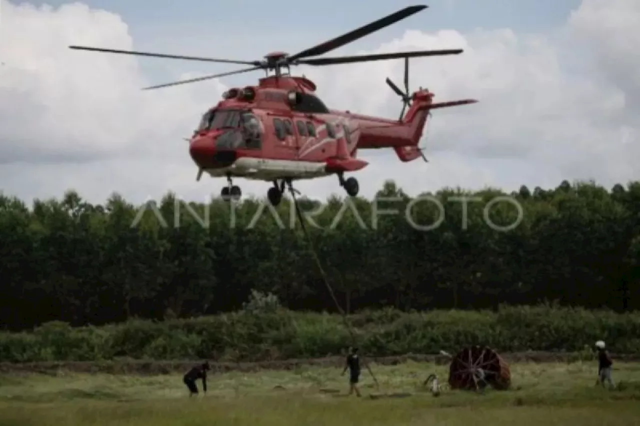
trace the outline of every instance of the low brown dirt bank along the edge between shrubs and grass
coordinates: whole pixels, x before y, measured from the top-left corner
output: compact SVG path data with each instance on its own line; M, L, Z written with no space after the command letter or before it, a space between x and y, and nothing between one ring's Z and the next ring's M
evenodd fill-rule
M575 354L555 352L516 352L500 354L509 363L517 362L565 362L576 359ZM620 361L640 361L640 354L614 354L613 358ZM367 357L367 361L378 365L398 365L406 361L430 362L447 364L449 358L441 355L401 355L385 357ZM196 361L60 361L46 363L0 363L0 373L41 373L55 374L58 370L79 373L105 374L140 374L161 375L175 372L185 372L193 367ZM258 372L260 370L294 370L299 367L342 367L344 358L339 356L314 359L283 359L280 361L260 361L253 363L210 362L213 373L230 371Z

